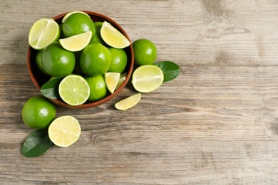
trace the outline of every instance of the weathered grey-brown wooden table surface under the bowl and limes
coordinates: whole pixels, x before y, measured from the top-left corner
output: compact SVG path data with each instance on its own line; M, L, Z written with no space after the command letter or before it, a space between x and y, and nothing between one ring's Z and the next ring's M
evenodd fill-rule
M148 38L180 75L130 110L128 83L100 107L70 110L81 137L21 156L33 131L21 110L39 95L26 68L39 18L105 14ZM10 1L0 8L0 184L278 184L278 1Z

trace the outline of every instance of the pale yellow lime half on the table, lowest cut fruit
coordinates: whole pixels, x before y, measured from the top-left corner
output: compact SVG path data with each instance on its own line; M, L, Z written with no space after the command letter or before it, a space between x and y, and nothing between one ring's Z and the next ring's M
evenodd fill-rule
M81 134L78 120L72 116L61 116L53 120L48 127L48 137L58 147L69 147Z

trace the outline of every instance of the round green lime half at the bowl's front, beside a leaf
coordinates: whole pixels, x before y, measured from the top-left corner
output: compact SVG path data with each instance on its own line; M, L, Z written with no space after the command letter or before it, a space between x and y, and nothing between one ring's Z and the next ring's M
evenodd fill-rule
M82 105L90 95L90 88L80 75L68 75L59 84L59 95L68 105Z

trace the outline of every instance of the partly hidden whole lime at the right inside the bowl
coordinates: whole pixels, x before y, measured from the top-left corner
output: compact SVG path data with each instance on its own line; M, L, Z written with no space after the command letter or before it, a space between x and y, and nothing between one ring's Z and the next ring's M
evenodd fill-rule
M108 72L123 73L125 71L126 65L128 64L128 56L126 55L125 51L123 49L116 48L108 49L112 55L112 61Z

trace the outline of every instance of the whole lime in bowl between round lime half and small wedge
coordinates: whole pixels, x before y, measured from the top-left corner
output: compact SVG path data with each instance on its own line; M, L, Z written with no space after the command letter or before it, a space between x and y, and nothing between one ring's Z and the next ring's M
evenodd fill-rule
M101 100L107 95L107 88L103 75L88 77L86 80L90 87L90 96L88 98L89 102Z

